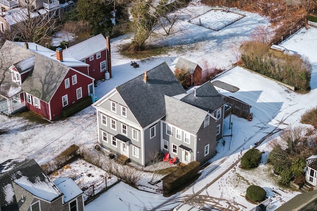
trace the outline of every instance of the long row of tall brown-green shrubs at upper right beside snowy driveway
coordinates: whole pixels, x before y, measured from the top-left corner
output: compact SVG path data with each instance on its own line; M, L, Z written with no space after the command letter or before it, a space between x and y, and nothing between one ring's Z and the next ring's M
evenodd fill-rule
M266 44L253 41L244 43L241 51L247 68L296 89L310 89L312 65L306 57L272 51Z

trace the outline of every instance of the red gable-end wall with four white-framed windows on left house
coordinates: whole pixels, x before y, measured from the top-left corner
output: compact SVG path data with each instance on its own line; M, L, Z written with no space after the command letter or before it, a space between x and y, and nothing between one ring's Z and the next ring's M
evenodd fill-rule
M77 75L77 84L72 84L72 76ZM70 87L65 89L64 80L69 78ZM52 120L61 116L61 110L67 106L70 106L77 101L82 100L83 98L88 96L88 85L93 83L93 80L79 74L73 70L69 70L68 74L64 78L63 82L59 85L57 91L55 92L52 100L51 100L51 113ZM82 98L77 100L76 89L82 87ZM62 96L67 94L68 105L63 107L62 105Z

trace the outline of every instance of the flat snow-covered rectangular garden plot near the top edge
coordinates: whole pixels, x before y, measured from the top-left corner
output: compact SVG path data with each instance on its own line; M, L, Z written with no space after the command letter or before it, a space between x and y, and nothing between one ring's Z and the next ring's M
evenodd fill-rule
M240 20L245 15L235 12L226 12L221 9L211 9L190 20L190 23L196 24L214 31L219 31L224 27Z

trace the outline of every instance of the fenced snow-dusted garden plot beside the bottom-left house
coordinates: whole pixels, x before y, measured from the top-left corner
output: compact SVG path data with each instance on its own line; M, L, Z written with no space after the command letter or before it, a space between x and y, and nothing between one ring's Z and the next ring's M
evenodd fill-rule
M61 169L54 171L49 177L55 180L59 177L71 177L84 191L84 200L114 184L118 179L82 159L77 159Z

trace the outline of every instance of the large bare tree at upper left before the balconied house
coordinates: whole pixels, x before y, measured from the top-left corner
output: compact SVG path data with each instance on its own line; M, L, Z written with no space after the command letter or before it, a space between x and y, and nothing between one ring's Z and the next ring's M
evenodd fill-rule
M12 16L11 38L26 42L40 42L49 38L57 28L55 14L57 10L48 12L37 8L34 0L25 0L25 5Z

